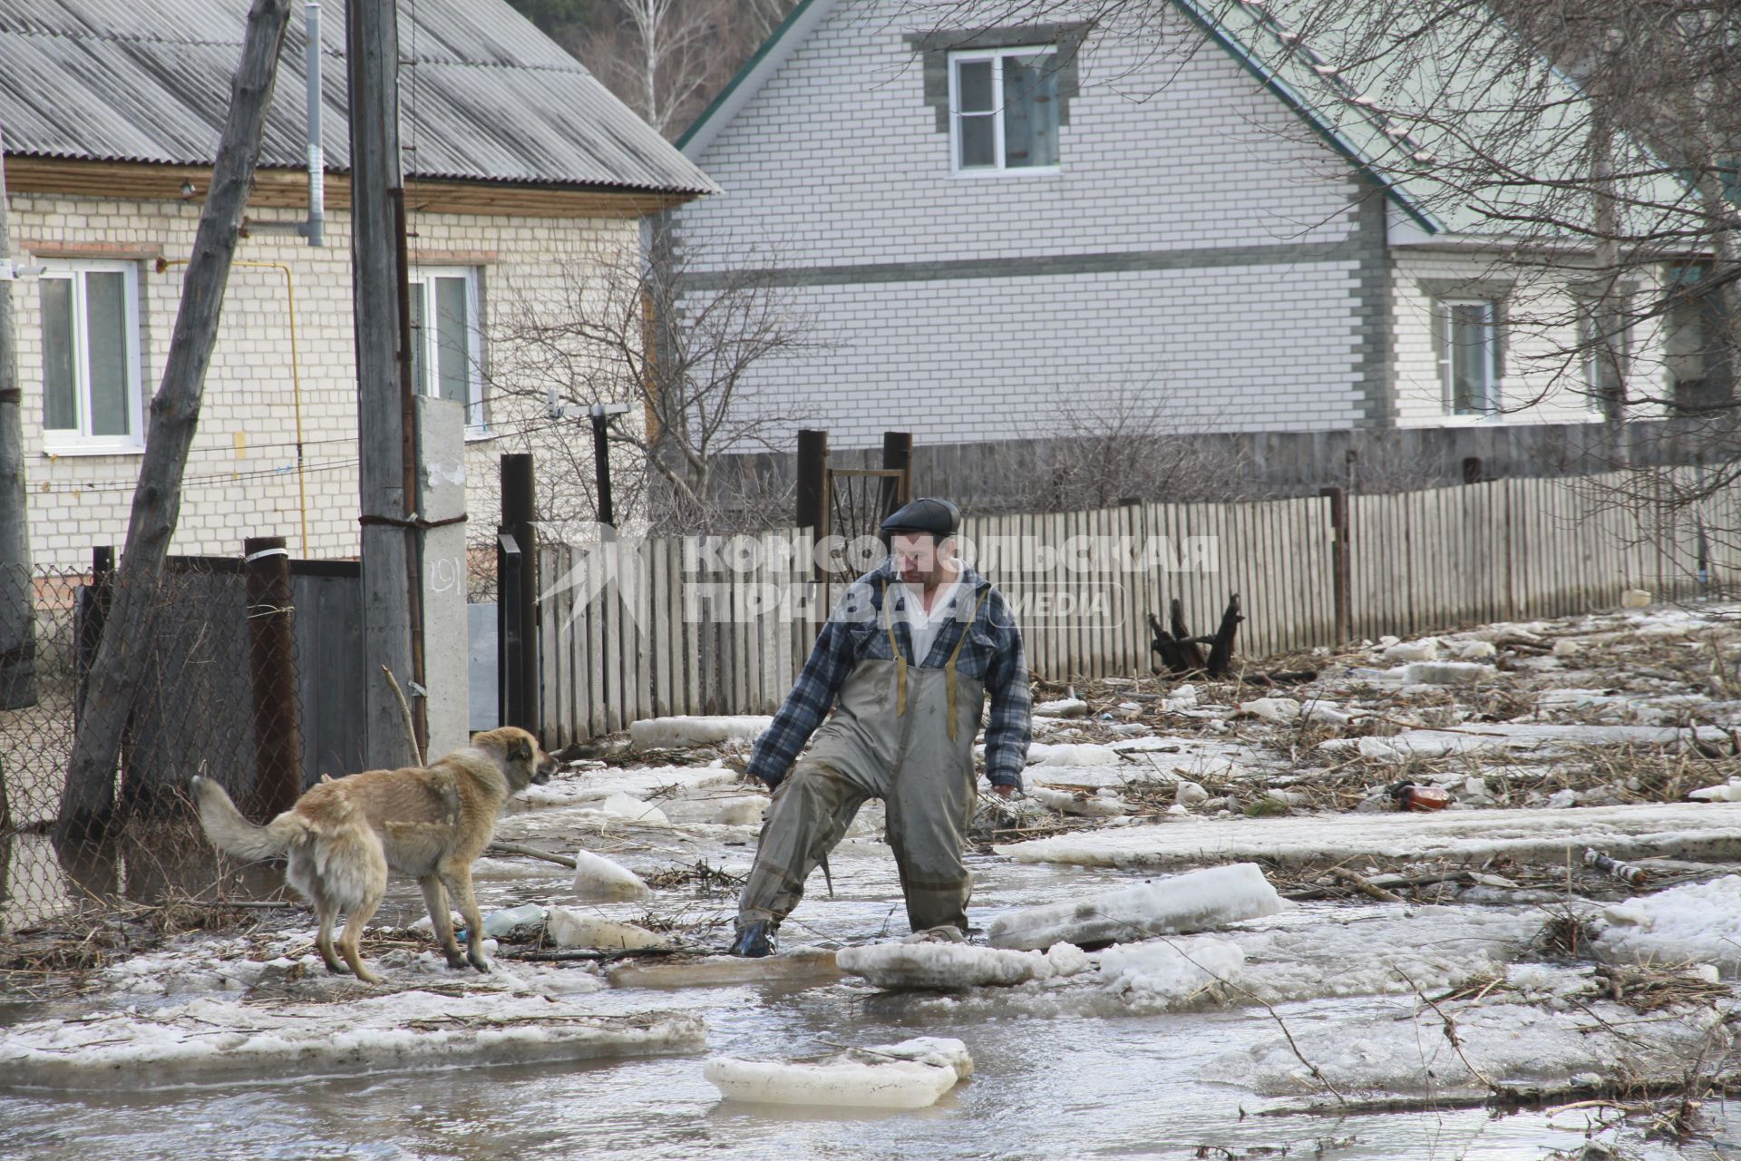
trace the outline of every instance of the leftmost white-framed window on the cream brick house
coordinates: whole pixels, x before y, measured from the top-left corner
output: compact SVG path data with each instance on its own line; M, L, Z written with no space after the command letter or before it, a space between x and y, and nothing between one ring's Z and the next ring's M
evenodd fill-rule
M125 261L45 266L37 285L44 451L139 451L145 447L139 266Z

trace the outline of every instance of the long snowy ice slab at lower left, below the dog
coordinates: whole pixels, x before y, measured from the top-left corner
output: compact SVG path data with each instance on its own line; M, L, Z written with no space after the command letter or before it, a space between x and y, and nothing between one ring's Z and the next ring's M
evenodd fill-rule
M14 1023L0 1039L0 1072L19 1088L172 1088L642 1057L705 1044L695 1015L599 1017L547 994L406 990L275 1004L200 997Z

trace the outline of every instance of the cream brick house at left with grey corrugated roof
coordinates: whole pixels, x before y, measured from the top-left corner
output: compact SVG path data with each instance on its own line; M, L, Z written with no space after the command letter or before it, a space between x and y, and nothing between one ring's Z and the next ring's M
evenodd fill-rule
M150 10L148 10L150 9ZM120 545L185 259L211 179L245 0L0 0L0 129L30 534L38 564ZM329 5L326 245L306 214L303 28L287 35L249 230L230 273L171 552L357 554L343 7ZM714 190L500 0L400 5L402 144L420 390L468 407L468 515L498 456L587 442L491 381L493 320L559 299L576 263L635 256L644 214ZM172 82L153 84L153 78ZM127 99L117 99L125 92ZM421 324L421 325L418 325Z

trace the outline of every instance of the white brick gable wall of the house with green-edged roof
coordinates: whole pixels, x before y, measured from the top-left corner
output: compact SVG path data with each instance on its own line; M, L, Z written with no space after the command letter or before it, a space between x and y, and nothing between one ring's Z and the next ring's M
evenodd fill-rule
M766 364L754 406L841 447L1039 435L1121 392L1201 430L1372 411L1361 190L1233 59L1093 37L1060 171L954 176L916 31L843 3L698 157L726 195L679 211L695 265L808 272L792 301L829 345ZM918 277L811 270L867 265Z

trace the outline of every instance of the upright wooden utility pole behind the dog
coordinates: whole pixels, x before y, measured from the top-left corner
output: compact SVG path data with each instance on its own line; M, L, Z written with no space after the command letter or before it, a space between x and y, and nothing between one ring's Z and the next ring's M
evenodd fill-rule
M423 674L416 649L421 594L416 447L411 421L411 346L404 261L404 174L399 157L399 5L345 9L350 78L350 258L357 313L357 449L362 501L362 660L385 665L411 696L418 747ZM413 759L399 701L371 677L364 698L364 757L371 768Z

